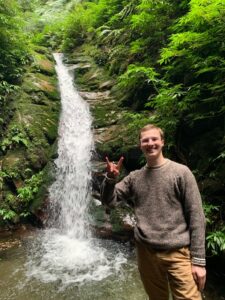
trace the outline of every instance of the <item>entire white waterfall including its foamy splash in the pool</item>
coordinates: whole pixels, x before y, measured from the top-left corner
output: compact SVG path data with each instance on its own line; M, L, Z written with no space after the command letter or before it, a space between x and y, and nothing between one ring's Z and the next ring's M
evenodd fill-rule
M73 85L62 54L54 55L61 93L56 181L50 188L53 217L30 252L27 275L43 282L99 281L126 261L115 244L107 249L89 231L91 152L93 139L87 103Z

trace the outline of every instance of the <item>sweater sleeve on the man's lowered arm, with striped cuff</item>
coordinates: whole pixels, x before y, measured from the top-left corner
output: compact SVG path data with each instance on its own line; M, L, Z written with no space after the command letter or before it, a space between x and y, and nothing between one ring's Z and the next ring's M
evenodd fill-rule
M192 264L205 266L205 216L197 182L188 168L183 174L181 186L184 213L190 230Z

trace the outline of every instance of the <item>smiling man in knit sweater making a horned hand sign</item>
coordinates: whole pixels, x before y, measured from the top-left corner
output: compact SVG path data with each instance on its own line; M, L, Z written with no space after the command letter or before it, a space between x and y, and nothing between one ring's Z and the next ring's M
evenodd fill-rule
M133 199L138 268L151 300L200 300L204 289L205 219L196 180L188 167L163 156L163 131L146 125L140 148L147 164L116 183L118 164L107 161L102 202Z

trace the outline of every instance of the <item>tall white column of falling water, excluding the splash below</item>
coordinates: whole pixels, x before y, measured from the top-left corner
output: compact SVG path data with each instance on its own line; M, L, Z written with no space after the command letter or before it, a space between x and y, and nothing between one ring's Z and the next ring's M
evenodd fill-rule
M62 54L55 54L54 57L62 110L58 158L55 160L57 176L50 188L50 201L57 208L54 225L71 237L82 239L89 236L87 209L93 150L91 115L88 104L73 86L73 76L62 63Z

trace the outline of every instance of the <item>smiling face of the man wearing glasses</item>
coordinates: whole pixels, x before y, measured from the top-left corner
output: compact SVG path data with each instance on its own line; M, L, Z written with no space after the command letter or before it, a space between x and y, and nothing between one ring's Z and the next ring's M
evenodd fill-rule
M141 133L140 148L146 159L156 159L162 153L164 140L158 129L149 129Z

